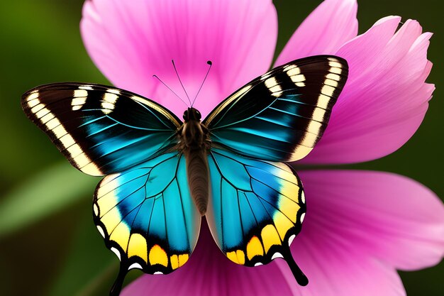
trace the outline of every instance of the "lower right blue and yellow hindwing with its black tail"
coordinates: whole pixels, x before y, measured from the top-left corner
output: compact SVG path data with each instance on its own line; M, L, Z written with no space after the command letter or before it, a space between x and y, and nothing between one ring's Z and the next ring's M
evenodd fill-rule
M284 163L246 158L228 150L209 153L211 198L206 212L211 234L233 262L255 266L284 257L306 278L289 252L306 205L296 173Z

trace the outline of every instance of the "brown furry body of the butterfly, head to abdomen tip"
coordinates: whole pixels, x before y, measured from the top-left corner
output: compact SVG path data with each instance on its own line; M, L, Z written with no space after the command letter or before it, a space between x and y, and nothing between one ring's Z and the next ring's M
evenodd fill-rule
M209 168L207 151L210 148L208 129L201 123L197 109L184 111L184 124L179 128L179 150L187 161L187 178L190 193L202 216L206 212L209 199Z

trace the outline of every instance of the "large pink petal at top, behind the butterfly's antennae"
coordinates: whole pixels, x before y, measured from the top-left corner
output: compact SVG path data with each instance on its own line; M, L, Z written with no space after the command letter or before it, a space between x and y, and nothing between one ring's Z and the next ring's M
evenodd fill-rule
M82 37L97 67L117 87L164 104L182 115L186 106L152 75L196 101L202 116L236 88L266 72L277 40L271 0L94 0L84 4ZM189 103L188 103L189 104Z

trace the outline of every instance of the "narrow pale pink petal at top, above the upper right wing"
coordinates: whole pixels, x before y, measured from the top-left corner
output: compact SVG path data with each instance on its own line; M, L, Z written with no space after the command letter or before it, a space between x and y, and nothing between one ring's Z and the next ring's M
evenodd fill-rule
M276 66L310 55L333 54L357 35L356 0L326 0L292 35Z

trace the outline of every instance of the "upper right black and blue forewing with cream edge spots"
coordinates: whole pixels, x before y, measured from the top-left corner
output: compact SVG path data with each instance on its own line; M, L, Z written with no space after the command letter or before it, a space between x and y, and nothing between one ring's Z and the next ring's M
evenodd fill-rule
M340 57L294 60L252 80L203 123L214 144L241 155L299 160L321 138L347 77Z

